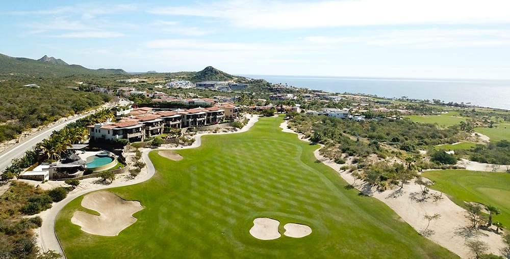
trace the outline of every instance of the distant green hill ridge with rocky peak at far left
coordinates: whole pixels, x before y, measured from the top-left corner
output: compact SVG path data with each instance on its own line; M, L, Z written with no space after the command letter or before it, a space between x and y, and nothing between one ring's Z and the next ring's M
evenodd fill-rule
M122 69L88 69L80 65L68 65L61 59L44 55L39 60L0 54L0 75L25 76L71 76L127 74Z

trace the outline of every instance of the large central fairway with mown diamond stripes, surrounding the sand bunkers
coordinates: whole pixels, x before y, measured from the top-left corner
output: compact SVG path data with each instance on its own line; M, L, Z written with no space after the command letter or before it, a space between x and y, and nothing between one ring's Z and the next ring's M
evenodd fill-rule
M338 173L315 163L318 146L261 118L245 133L209 135L171 161L149 154L149 181L110 189L139 200L138 221L116 237L84 233L70 223L81 199L56 221L67 258L458 258L419 236L389 207L359 196ZM263 241L253 219L311 226L310 236Z

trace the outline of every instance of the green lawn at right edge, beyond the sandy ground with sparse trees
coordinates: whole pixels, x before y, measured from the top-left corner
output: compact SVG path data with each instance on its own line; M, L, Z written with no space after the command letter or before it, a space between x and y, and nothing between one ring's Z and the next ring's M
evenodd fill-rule
M448 194L457 205L463 206L466 201L498 207L501 214L494 216L494 220L510 227L510 174L437 170L423 172L422 176L436 181L432 189Z

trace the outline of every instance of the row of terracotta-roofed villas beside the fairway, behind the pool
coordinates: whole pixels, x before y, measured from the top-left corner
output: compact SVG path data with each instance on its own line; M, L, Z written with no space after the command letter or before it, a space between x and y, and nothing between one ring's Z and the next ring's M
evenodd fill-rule
M156 111L141 107L130 111L130 116L118 122L96 123L88 126L91 140L127 139L143 141L145 137L161 135L165 129L200 127L222 123L225 118L239 116L239 107L233 103L217 103L209 108Z

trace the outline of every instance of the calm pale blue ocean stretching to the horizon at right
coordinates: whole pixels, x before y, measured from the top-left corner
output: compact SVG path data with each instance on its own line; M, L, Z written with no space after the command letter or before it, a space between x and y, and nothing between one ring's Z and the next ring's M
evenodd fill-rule
M242 75L298 88L385 98L439 99L510 110L510 80L365 78L333 76Z

